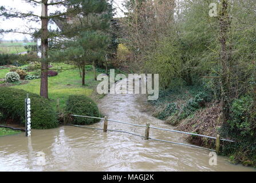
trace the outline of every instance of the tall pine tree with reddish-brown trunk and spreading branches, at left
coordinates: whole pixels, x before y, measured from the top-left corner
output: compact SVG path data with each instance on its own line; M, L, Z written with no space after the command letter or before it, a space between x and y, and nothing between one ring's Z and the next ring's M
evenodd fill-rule
M22 33L35 35L41 37L41 86L40 95L42 97L48 98L48 50L49 50L49 40L52 42L56 39L61 38L67 39L72 37L73 34L79 34L81 31L88 30L88 26L66 26L68 29L62 31L49 31L48 23L53 19L61 19L65 25L73 24L73 20L86 17L89 14L101 14L107 9L109 3L106 0L25 0L31 6L42 6L41 15L33 13L33 11L22 12L17 9L7 9L4 6L0 7L0 16L3 18L22 18L26 21L39 22L41 21L41 29L37 30L36 27L30 27L28 31L22 31L18 29L10 30L0 30L1 33ZM56 7L54 13L48 14L49 6ZM58 7L65 7L65 11L60 11ZM88 17L87 17L88 18ZM91 26L97 26L96 23ZM31 31L35 31L35 34Z

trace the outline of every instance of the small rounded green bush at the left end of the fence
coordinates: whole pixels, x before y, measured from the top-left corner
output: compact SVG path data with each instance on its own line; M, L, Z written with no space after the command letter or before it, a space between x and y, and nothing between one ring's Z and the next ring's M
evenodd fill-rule
M86 96L69 96L66 102L66 114L76 114L82 116L100 117L97 105L92 99ZM72 117L70 122L77 125L89 125L99 122L99 119Z

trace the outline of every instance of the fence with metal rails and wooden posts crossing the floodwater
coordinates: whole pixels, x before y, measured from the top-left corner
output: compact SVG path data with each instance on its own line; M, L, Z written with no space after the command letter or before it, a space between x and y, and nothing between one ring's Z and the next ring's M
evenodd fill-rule
M85 117L85 118L95 118L95 119L104 120L103 129L101 129L101 128L93 128L93 127L89 127L89 126L85 126L85 125L73 125L73 124L66 124L66 125L76 126L76 127L80 127L80 128L88 128L88 129L103 130L103 132L109 131L109 132L127 133L127 134L132 134L133 136L143 137L145 140L155 140L155 141L161 141L161 142L168 142L168 143L176 144L176 145L190 146L190 147L193 147L193 148L211 150L211 151L214 151L214 152L216 152L216 153L219 153L220 141L235 142L235 141L232 141L232 140L227 140L227 139L224 139L224 138L220 138L219 135L217 135L216 137L211 137L211 136L204 136L204 135L202 135L202 134L195 134L195 133L182 132L182 131L178 131L178 130L171 130L171 129L159 128L159 127L156 127L156 126L150 126L150 124L146 124L146 125L132 124L132 123L129 123L129 122L124 122L124 121L111 120L111 119L108 119L106 116L105 116L105 118L92 117L92 116L81 116L81 115L75 115L75 114L71 114L70 116L73 116L73 117ZM117 123L120 123L120 124L132 125L132 126L145 127L145 136L141 136L140 134L135 134L135 133L131 133L131 132L125 132L125 131L123 131L123 130L108 129L108 121L117 122ZM152 137L149 137L149 129L150 129L150 128L152 128L152 129L157 129L157 130L168 131L168 132L189 134L189 135L192 135L192 136L199 136L199 137L211 138L211 139L214 139L214 140L215 140L215 149L203 148L203 147L200 147L200 146L191 145L191 144L184 144L184 143L181 143L181 142L172 142L172 141L167 141L167 140L161 140L161 139L157 139L157 138L152 138Z

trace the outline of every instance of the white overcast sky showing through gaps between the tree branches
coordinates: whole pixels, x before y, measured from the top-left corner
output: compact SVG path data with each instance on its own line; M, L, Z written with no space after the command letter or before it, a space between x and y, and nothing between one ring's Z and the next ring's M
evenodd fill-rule
M114 0L113 6L116 7L115 17L123 16L123 13L120 9L123 9L122 3L124 1L125 0ZM15 8L21 12L33 11L34 14L37 14L37 15L41 14L41 6L40 5L33 7L29 3L26 3L23 0L5 0L5 1L0 0L0 6L5 6L7 9L10 9L10 7ZM48 13L52 13L52 12L54 12L54 10L56 10L56 7L54 8L53 6L49 6ZM49 25L49 26L51 26L52 29L54 29L56 27L56 25ZM26 31L26 30L28 30L27 27L37 27L38 29L40 29L41 23L40 22L32 23L32 22L28 22L21 18L11 18L11 19L5 19L5 20L3 20L2 18L0 19L0 29L17 29L17 28L19 28L19 30ZM18 34L18 33L4 34L0 38L3 40L15 40L15 39L23 40L23 38L25 36L28 39L30 39L29 35Z

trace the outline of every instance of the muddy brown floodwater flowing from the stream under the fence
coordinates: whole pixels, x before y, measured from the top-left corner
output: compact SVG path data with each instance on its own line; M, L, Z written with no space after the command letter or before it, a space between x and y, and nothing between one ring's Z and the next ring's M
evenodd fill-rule
M148 114L147 106L142 94L108 94L99 104L113 120L173 129ZM103 121L90 126L103 128ZM143 127L115 122L109 122L108 129L144 134ZM150 129L149 136L187 143L179 133ZM217 165L209 165L209 153L131 134L61 126L32 130L29 138L25 133L0 137L0 171L255 171L222 156Z

